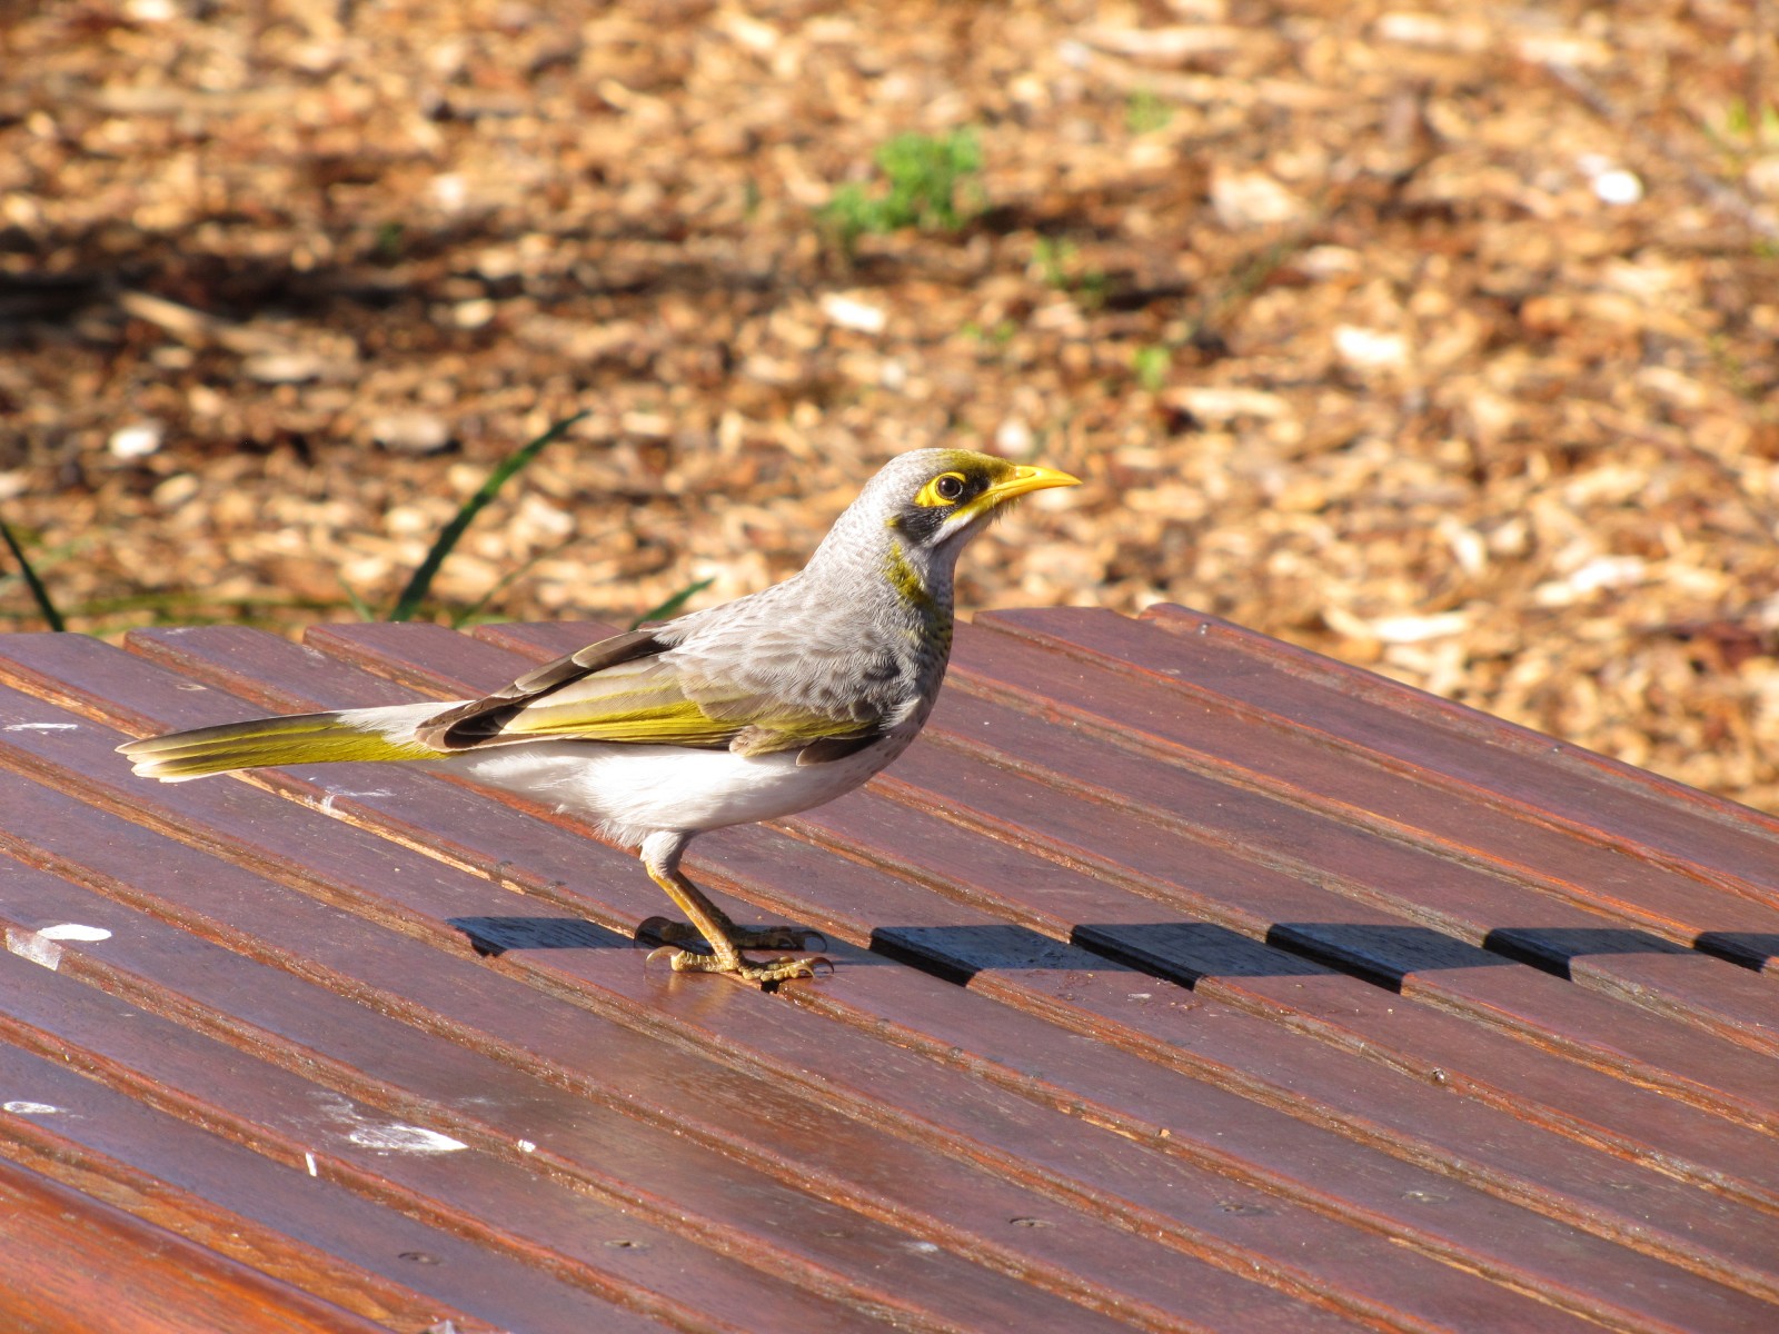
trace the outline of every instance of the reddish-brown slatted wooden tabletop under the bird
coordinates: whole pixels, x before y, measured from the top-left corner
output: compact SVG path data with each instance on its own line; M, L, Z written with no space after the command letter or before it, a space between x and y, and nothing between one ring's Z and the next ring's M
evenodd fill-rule
M1779 1327L1779 824L1211 617L982 617L890 774L699 840L827 934L777 994L548 811L112 754L601 631L0 639L0 1314Z

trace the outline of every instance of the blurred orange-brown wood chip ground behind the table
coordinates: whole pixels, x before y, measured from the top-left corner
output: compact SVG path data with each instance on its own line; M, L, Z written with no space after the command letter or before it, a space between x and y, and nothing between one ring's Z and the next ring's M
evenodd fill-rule
M0 516L75 630L295 631L585 409L436 596L626 621L984 446L1085 486L968 607L1181 601L1779 809L1775 28L5 0ZM849 253L836 190L962 128L962 226Z

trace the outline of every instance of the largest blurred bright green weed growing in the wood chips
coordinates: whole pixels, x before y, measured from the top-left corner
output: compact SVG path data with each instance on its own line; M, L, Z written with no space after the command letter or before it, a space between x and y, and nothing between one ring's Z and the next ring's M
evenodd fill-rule
M877 149L875 189L841 185L820 217L850 251L859 237L902 228L957 231L982 212L982 144L975 130L902 133Z

